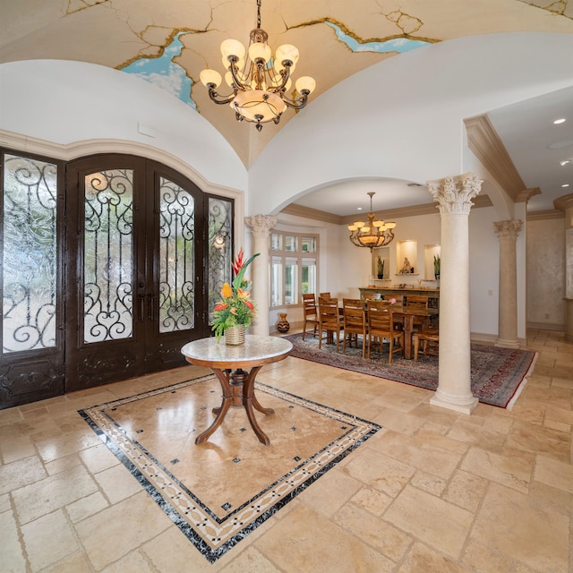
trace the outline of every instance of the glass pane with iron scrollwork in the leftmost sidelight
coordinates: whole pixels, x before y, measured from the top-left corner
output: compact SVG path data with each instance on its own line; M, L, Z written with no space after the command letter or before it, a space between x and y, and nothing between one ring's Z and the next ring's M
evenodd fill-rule
M56 165L4 155L4 354L56 346L56 192Z

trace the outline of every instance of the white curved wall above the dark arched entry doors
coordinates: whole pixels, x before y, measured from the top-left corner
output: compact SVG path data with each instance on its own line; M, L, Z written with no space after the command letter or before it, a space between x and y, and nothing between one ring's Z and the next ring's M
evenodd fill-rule
M148 81L101 65L0 64L0 129L63 145L135 141L180 158L210 184L247 189L243 163L207 120Z

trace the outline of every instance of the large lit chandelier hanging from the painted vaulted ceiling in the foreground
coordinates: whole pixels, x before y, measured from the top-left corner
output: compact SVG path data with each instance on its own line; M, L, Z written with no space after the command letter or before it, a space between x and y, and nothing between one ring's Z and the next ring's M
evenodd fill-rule
M201 72L202 84L209 90L209 97L216 104L230 104L235 118L256 124L260 132L262 124L272 121L278 124L286 107L302 109L316 86L309 76L299 78L291 98L286 95L291 89L291 73L295 71L298 50L290 44L277 48L274 58L267 44L269 35L261 29L261 0L257 0L257 27L251 30L249 49L236 39L226 39L221 44L223 66L227 70L225 81L233 90L229 96L220 96L216 91L221 74L206 69Z

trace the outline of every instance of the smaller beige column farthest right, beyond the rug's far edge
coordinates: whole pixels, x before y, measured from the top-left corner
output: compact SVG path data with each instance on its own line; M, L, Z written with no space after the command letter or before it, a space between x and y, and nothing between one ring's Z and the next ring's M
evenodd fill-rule
M517 235L523 221L493 223L500 240L500 301L498 339L495 346L518 348L517 340Z

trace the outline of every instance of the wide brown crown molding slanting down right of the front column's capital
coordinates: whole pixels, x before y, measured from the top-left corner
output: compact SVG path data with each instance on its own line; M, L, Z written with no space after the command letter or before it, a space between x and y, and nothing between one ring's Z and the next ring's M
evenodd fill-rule
M487 115L476 115L464 120L467 147L472 150L503 191L516 202L526 189L521 175L506 150L500 136Z

